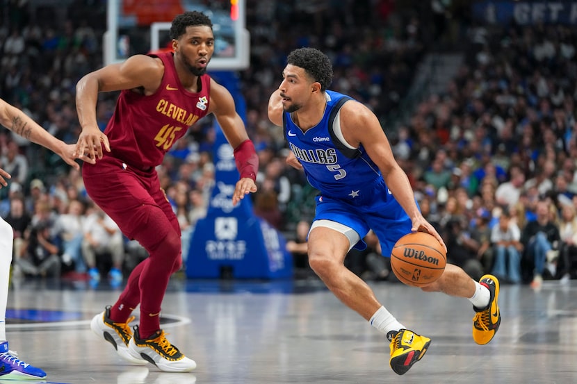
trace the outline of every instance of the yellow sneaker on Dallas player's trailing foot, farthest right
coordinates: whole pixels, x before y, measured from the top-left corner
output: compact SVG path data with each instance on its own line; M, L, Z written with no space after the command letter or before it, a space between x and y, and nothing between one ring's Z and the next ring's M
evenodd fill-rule
M476 315L473 317L473 340L477 344L487 344L493 339L501 324L501 311L497 304L499 296L499 281L493 275L482 276L479 283L485 285L491 292L489 304L485 308L475 308Z

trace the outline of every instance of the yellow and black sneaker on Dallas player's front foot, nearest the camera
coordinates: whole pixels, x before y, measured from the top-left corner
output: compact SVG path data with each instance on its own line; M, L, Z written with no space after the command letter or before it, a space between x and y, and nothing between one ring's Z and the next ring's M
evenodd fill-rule
M389 365L398 375L407 373L415 362L421 360L431 343L428 337L417 335L408 329L400 329L397 333L391 331L387 337L391 340Z

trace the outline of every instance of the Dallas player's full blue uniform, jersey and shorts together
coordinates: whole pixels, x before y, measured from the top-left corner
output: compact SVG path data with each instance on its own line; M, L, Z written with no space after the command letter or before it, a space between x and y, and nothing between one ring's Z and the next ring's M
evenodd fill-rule
M282 115L291 151L309 183L320 191L314 219L348 226L361 239L372 228L380 240L382 255L390 256L395 242L411 231L411 219L394 199L364 147L352 148L343 138L339 111L352 99L328 90L326 96L323 119L306 132L293 122L289 112ZM361 240L351 246L364 249L366 244Z

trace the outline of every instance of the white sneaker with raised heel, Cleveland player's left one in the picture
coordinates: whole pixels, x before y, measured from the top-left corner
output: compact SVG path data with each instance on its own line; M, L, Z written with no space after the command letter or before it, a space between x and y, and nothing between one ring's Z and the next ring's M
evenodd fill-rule
M134 317L130 317L126 323L115 323L110 318L111 306L107 306L103 312L92 318L90 322L90 329L99 337L104 337L104 340L111 343L116 349L118 356L127 360L132 364L146 365L146 361L138 355L132 356L128 351L129 340L132 339L132 331L129 326Z

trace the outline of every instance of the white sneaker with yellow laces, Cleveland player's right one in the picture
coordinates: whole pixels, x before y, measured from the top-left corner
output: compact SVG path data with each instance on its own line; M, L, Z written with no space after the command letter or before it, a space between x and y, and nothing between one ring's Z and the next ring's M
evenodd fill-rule
M156 331L148 339L140 339L138 326L128 344L133 358L147 360L163 372L190 372L196 368L196 362L184 356L177 347L166 340L163 330Z

